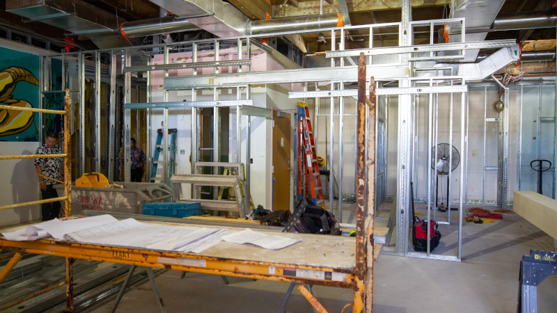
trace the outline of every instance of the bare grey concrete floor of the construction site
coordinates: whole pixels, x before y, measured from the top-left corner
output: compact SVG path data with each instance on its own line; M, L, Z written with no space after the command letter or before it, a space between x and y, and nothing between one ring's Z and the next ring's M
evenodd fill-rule
M388 212L388 207L384 208L382 211ZM344 204L343 209L347 210L343 221L350 223L354 204ZM416 211L425 213L425 206L419 205ZM504 214L503 220L494 223L463 223L462 262L381 255L374 271L373 312L516 312L522 255L531 249L554 247L551 237L521 220L516 214ZM386 219L377 223L386 223ZM439 231L441 244L434 252L453 255L457 225L440 225ZM393 247L386 250L389 248ZM230 277L230 284L225 285L218 275L187 273L185 279L180 279L180 273L167 271L157 277L168 313L276 312L288 289L284 282ZM158 312L150 288L147 282L127 291L117 312ZM350 289L320 286L313 287L313 292L329 312L340 312L344 305L352 303L354 295ZM112 303L93 312L110 312ZM538 287L538 312L557 312L556 308L557 275L552 275ZM313 311L295 290L286 312Z

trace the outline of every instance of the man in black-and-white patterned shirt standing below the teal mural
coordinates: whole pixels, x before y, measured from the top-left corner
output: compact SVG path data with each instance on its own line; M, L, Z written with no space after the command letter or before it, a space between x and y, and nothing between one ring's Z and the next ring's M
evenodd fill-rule
M58 146L58 135L56 133L48 133L45 144L38 147L36 154L61 154L62 150ZM62 172L63 158L40 158L35 159L35 168L37 174L51 177L58 180L63 180L64 174ZM52 179L47 179L39 176L40 192L42 199L58 198L56 189L54 189L54 182ZM60 213L60 201L47 202L42 204L42 220L53 220L58 218Z

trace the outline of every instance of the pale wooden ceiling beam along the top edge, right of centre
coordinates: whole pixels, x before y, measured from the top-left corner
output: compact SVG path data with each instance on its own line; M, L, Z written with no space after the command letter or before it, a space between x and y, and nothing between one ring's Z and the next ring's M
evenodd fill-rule
M230 0L230 3L235 2L249 2L249 0ZM341 0L342 1L342 0ZM255 2L255 1L254 1ZM337 1L323 1L323 14L339 13L339 3ZM400 0L383 0L383 1L361 1L361 0L345 0L348 12L364 12L364 11L379 11L379 10L397 10L401 8ZM424 8L430 6L443 6L446 0L410 0L412 8ZM304 15L318 15L320 14L320 0L314 1L299 1L297 8L293 6L280 5L273 6L274 18L280 17L294 17ZM240 8L236 6L237 8ZM242 10L240 8L240 10ZM342 13L342 11L340 11ZM344 19L344 16L343 16ZM346 21L345 21L346 24Z

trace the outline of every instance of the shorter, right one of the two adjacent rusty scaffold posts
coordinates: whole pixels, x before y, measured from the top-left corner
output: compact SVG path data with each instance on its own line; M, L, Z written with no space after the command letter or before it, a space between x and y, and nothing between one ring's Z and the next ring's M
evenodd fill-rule
M366 268L366 312L371 312L373 304L373 222L375 217L375 77L370 79L370 107L369 107L369 134L368 134L368 218L369 225L366 232L368 244L368 260Z

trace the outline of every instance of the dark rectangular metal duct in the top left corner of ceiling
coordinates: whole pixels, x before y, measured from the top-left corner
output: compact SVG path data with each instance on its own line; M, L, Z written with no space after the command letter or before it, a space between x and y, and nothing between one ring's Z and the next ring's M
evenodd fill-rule
M100 49L130 47L132 44L113 29L125 22L101 8L80 0L6 0L6 12L49 24L75 34L95 34L91 38ZM97 34L99 33L99 34Z

